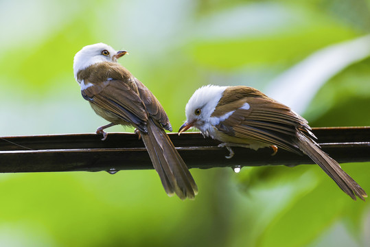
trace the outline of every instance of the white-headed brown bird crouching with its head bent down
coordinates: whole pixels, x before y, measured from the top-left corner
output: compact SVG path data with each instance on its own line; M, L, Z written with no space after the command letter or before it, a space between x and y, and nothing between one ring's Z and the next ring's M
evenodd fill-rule
M207 85L197 89L185 106L186 121L178 134L197 128L219 147L258 150L271 147L307 154L353 200L365 201L367 193L343 171L338 162L321 150L308 121L288 106L249 86Z

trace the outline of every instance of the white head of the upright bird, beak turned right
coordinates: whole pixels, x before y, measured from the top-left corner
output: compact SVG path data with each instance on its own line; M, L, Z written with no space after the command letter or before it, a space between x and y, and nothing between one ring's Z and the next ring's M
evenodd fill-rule
M73 71L75 78L77 78L78 71L86 69L87 67L97 62L117 62L127 51L115 51L111 46L104 43L97 43L94 45L86 45L76 54L73 60Z

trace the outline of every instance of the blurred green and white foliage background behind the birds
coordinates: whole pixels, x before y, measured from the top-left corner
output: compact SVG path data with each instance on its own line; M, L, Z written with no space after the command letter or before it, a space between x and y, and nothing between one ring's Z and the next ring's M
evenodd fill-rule
M2 0L0 135L106 124L72 69L74 54L99 42L130 52L119 62L174 130L205 84L253 86L312 127L369 126L369 32L369 0ZM343 164L368 193L369 165ZM192 174L199 194L184 202L154 170L0 174L0 245L370 245L369 202L353 202L317 166Z

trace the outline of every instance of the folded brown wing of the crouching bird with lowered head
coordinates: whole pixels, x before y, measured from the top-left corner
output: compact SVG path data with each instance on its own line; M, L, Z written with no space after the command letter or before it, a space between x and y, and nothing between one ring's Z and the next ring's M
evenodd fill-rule
M307 121L288 106L270 99L256 89L245 86L243 89L238 94L225 92L235 97L227 97L230 99L227 102L220 100L218 110L212 114L220 118L216 128L231 136L277 145L301 154L294 139L297 131L311 134ZM229 117L223 119L221 113L229 113Z

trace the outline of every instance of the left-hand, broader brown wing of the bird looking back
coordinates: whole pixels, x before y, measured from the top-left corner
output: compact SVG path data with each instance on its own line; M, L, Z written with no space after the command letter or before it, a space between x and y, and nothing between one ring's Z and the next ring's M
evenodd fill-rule
M89 82L85 82L89 83ZM93 84L82 92L84 99L147 132L148 113L139 95L121 80Z

